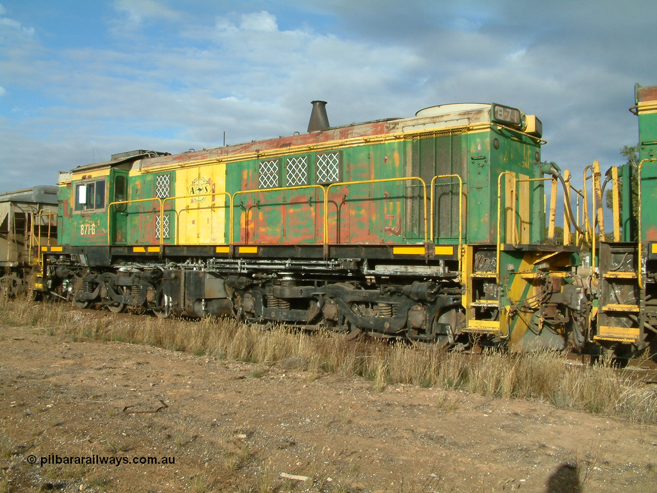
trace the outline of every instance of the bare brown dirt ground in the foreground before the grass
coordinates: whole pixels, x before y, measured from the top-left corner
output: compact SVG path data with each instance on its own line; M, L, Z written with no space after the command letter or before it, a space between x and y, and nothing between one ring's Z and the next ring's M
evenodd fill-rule
M0 339L0 492L579 491L549 489L555 474L657 490L654 426L43 329Z

